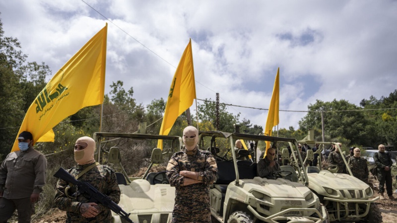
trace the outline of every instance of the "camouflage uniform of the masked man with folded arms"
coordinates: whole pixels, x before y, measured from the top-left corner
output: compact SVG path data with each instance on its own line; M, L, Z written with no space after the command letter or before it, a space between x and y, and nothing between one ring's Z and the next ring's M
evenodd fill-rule
M189 155L188 155L189 154ZM185 177L182 170L199 172L202 183L184 186ZM167 178L175 186L175 206L172 212L172 223L209 223L211 212L209 203L209 185L216 180L218 168L209 151L199 150L175 153L168 162Z

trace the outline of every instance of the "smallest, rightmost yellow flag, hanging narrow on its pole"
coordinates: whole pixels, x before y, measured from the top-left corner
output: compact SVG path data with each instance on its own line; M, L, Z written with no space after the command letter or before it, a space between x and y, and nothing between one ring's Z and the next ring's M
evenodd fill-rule
M267 120L265 125L265 135L271 136L271 129L278 125L278 104L280 102L280 82L279 82L280 67L277 68L277 75L274 80L273 94L271 95L269 112L267 113ZM266 141L265 156L267 149L270 147L270 142Z

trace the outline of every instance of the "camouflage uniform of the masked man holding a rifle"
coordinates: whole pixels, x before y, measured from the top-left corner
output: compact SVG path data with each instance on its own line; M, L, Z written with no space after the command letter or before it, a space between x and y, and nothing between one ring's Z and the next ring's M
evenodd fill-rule
M66 171L73 176L77 176L84 168L90 166L86 165L76 165L75 167L68 168ZM106 165L98 165L88 170L85 174L80 176L77 180L81 182L88 182L98 191L108 196L116 204L120 201L120 188L117 183L115 172ZM89 203L90 198L86 197L86 194L77 193L77 199L68 198L65 194L65 188L69 183L62 179L58 180L57 191L55 194L55 204L57 207L66 211L66 223L110 223L111 222L111 211L110 209L98 204L96 207L99 209L99 214L92 220L88 221L83 217L78 210L80 203ZM68 190L68 195L74 197L76 192L76 187L73 185Z

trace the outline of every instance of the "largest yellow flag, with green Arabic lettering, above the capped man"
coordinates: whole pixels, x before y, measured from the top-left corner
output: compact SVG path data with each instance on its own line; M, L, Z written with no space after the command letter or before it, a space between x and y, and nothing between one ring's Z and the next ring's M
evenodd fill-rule
M47 83L26 112L18 135L29 131L34 142L54 142L52 128L59 122L84 107L103 103L107 32L108 24ZM15 140L11 152L17 150Z

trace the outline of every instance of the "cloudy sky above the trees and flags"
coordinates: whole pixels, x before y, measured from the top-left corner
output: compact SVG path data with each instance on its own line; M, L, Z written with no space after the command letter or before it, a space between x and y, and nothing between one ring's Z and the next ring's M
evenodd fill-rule
M268 109L280 67L280 128L316 100L359 105L397 89L396 0L103 2L0 0L4 36L54 74L107 22L105 93L121 80L143 105L167 98L189 38L198 99ZM265 110L228 111L265 127Z

